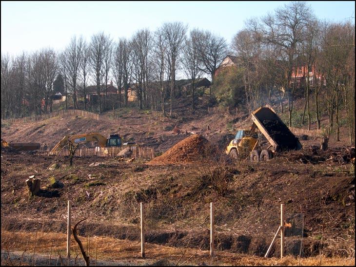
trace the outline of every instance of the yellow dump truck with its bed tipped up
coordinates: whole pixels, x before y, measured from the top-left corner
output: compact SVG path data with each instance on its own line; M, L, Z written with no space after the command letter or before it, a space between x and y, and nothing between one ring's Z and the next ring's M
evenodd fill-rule
M251 128L238 130L225 153L234 158L250 154L250 160L258 162L272 159L276 152L302 148L298 138L272 108L259 108L251 113L251 118Z

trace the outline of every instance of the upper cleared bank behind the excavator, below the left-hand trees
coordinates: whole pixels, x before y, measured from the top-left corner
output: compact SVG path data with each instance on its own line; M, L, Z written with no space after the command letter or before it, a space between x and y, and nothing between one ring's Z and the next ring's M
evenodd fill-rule
M99 132L103 135L121 134L124 141L136 141L144 146L152 146L157 151L166 151L186 136L185 131L200 131L206 136L226 132L234 117L230 114L208 114L204 102L198 106L195 114L189 111L189 104L182 99L176 104L173 116L163 117L157 112L137 109L117 109L107 112L100 120L81 116L62 116L37 122L3 125L1 138L8 142L39 142L52 148L66 134ZM189 103L189 102L188 102ZM207 126L209 129L207 130ZM173 133L174 127L180 128L180 134Z

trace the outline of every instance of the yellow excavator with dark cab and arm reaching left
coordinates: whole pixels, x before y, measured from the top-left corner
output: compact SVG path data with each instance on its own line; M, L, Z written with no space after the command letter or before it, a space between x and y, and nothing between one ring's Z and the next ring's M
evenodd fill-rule
M50 154L55 154L69 142L73 144L97 141L100 147L121 147L122 137L119 134L110 134L108 137L99 133L65 135L62 140L51 150Z

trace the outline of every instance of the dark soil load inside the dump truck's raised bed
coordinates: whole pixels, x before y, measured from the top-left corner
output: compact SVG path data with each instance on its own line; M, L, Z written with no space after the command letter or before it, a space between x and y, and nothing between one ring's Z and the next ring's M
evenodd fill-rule
M263 120L264 128L281 150L297 149L297 137L279 120Z

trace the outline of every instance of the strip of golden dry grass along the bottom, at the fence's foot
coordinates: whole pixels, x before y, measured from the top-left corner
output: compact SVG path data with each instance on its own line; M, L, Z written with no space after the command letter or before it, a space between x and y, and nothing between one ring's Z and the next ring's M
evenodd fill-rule
M11 251L27 251L33 250L35 245L35 232L9 232L1 231L1 250L11 247ZM87 246L87 239L80 237L84 247ZM52 242L53 240L53 242ZM66 250L66 235L62 233L44 233L37 232L36 253L50 254L51 245L52 256L58 251L61 255L65 255ZM15 244L15 245L13 245ZM77 244L72 238L72 257L77 255ZM140 258L140 244L135 241L119 240L111 237L94 236L90 239L90 257L95 259L95 248L98 248L98 260L120 260L128 261L133 264L142 262ZM146 259L159 260L168 259L173 263L177 263L184 252L184 248L172 248L166 246L159 246L154 244L146 244ZM194 255L194 256L193 256ZM283 259L277 258L261 258L257 256L250 256L244 254L236 254L229 252L218 252L213 258L209 256L209 251L187 248L184 256L179 264L188 260L186 264L207 264L207 265L232 265L232 266L318 266L319 256L310 258L285 257ZM355 258L340 258L340 257L321 257L322 266L355 266Z

